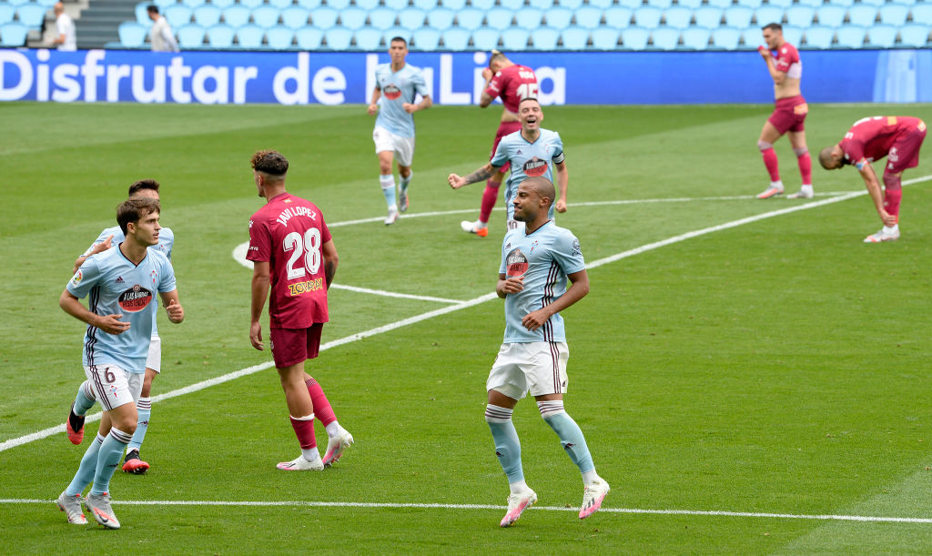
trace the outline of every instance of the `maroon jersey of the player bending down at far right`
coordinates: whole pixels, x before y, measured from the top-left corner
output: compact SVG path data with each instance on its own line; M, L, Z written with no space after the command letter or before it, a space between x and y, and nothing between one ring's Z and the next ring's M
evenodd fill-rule
M861 170L865 164L887 156L899 138L917 130L925 131L925 124L917 117L875 115L857 120L839 145L844 158Z

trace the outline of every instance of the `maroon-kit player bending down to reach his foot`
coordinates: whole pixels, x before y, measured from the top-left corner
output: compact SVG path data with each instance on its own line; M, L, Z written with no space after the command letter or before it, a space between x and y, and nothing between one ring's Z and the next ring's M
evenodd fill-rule
M875 115L857 120L844 134L842 142L819 153L822 168L835 170L850 164L861 172L870 198L884 227L864 238L865 243L899 239L899 200L903 188L899 177L903 170L919 164L919 149L925 140L925 122L918 117ZM886 156L884 195L871 162Z

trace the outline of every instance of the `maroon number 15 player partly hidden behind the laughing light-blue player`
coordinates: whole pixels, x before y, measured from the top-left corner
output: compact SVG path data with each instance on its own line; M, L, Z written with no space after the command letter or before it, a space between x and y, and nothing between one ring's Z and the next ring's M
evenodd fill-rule
M504 109L501 111L501 123L498 131L495 132L495 142L492 143L492 152L489 155L491 160L492 156L495 156L495 149L499 147L501 138L521 130L521 121L518 119L518 103L528 97L537 98L538 84L534 70L508 60L498 50L492 50L492 56L488 59L488 67L482 71L482 76L486 79L486 86L483 88L482 97L479 99L479 106L486 108L495 101L496 97L500 97L501 103L504 104ZM492 209L499 198L501 180L507 171L508 163L505 163L488 178L486 191L482 194L482 208L479 210L479 220L476 222L464 220L459 223L464 231L479 237L488 235L488 219L491 217ZM557 202L557 205L559 205L559 202ZM563 212L566 210L566 206L562 207L562 210L559 206L556 209Z

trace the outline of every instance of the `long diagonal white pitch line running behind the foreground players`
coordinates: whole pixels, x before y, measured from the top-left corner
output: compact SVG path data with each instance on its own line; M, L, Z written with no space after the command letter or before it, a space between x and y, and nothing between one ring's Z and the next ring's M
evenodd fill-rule
M912 179L912 180L907 180L907 181L904 181L902 184L903 184L903 185L910 185L911 183L927 182L927 181L929 181L929 180L932 180L932 175L927 175L927 176L923 176L923 177L920 177L920 178L914 178L914 179ZM774 216L780 216L780 215L783 215L783 214L788 214L788 213L790 213L790 212L795 212L795 211L797 211L797 210L815 209L816 207L821 207L821 206L823 206L823 205L828 205L828 204L830 204L830 203L837 203L837 202L840 202L840 201L843 201L843 200L847 200L847 199L854 198L854 197L860 197L860 196L867 195L867 194L868 194L867 190L854 191L854 192L850 192L850 193L845 193L845 194L843 194L843 195L841 195L841 196L839 196L839 197L831 197L831 198L823 199L823 200L819 200L819 201L811 201L811 202L808 202L808 203L804 203L804 204L802 204L802 205L794 205L794 206L788 207L788 208L786 208L786 209L773 210L773 211L771 211L771 212L764 212L764 213L758 214L758 215L756 215L756 216L748 216L747 218L742 218L742 219L739 219L739 220L734 220L734 221L732 221L732 222L728 222L728 223L725 223L725 224L719 224L719 225L715 225L715 226L710 226L710 227L707 227L707 228L703 228L703 229L701 229L701 230L696 230L696 231L694 231L694 232L687 232L686 234L680 234L679 236L669 237L669 238L664 239L664 240L662 240L662 241L655 241L655 242L653 242L653 243L649 243L649 244L647 244L647 245L643 245L643 246L641 246L641 247L638 247L638 248L635 248L635 249L632 249L632 250L623 251L623 252L621 252L621 253L618 253L618 254L615 254L615 255L611 255L610 257L605 257L605 258L603 258L603 259L599 259L599 260L594 261L594 262L592 262L592 263L586 264L586 268L597 268L598 266L601 266L601 265L603 265L603 264L614 263L614 262L616 262L616 261L620 261L621 259L624 259L624 258L627 258L627 257L631 257L631 256L637 255L637 254L642 253L642 252L645 252L645 251L652 251L652 250L655 250L655 249L664 247L665 245L671 245L671 244L673 244L673 243L678 243L678 242L680 242L680 241L685 241L686 239L691 239L692 237L705 236L706 234L711 234L711 233L713 233L713 232L718 232L718 231L720 231L720 230L726 230L726 229L728 229L728 228L733 228L733 227L735 227L735 226L744 225L744 224L751 224L751 223L754 223L754 222L758 222L758 221L761 221L761 220L765 220L765 219L767 219L767 218L773 218ZM750 198L753 198L753 197L750 197ZM610 203L610 202L613 202L613 201L603 201L603 202L604 202L604 203ZM766 201L761 201L761 202L773 202L773 201L766 200ZM421 213L421 215L429 215L429 214L430 214L430 215L451 214L451 213L457 213L457 212L463 212L463 211L464 211L464 210L454 210L454 211L446 211L446 212L424 212L424 213ZM409 216L418 216L418 215L413 215L413 214L412 214L412 215L409 215ZM376 218L376 219L366 219L366 220L360 220L360 221L352 221L352 222L354 222L354 223L360 223L360 222L376 222L377 220L378 220L378 218ZM336 225L345 225L345 224L347 224L347 223L336 223L336 224L328 224L328 225L336 226ZM244 245L247 245L247 247L248 247L248 244L244 244ZM241 247L241 246L237 246L237 249L239 249L240 247ZM234 250L234 253L235 253L235 252L236 252L236 250ZM245 252L245 251L243 251L243 252ZM243 256L242 259L245 260L245 256ZM238 259L238 261L239 261L239 260L240 260L240 259ZM331 286L331 287L334 287L334 286ZM401 295L401 294L398 294L398 295ZM332 342L327 342L326 344L324 344L324 345L321 346L321 350L329 349L329 348L331 348L331 347L336 347L336 346L342 346L342 345L344 345L344 344L349 344L349 343L352 343L352 342L356 342L356 341L358 341L358 340L362 340L362 339L364 339L364 338L368 338L369 336L374 336L374 335L376 335L376 334L380 334L380 333L383 333L383 332L390 332L390 331L392 331L392 330L395 330L396 328L402 328L402 327L407 326L407 325L409 325L409 324L414 324L414 323L416 323L416 322L420 322L421 320L432 319L432 318L434 318L434 317L439 317L439 316L445 315L445 314L447 314L447 313L452 313L453 311L459 311L459 309L465 309L465 308L471 307L471 306L473 306L473 305L479 305L479 304L481 304L481 303L485 303L485 302L487 302L487 301L491 301L491 300L493 300L493 299L496 299L497 297L498 297L498 295L497 295L495 292L491 292L491 293L487 293L487 294L485 294L485 295L480 295L479 297L476 297L476 298L471 299L471 300L469 300L469 301L455 302L456 305L449 305L449 306L446 306L446 307L443 307L443 308L440 308L440 309L434 309L433 311L428 311L427 313L422 313L422 314L420 314L420 315L416 315L415 317L410 317L410 318L408 318L408 319L398 320L398 321L396 321L396 322L392 322L392 323L390 323L390 324L386 324L385 326L379 326L379 327L377 327L377 328L374 328L374 329L371 329L371 330L368 330L368 331L365 331L365 332L359 332L359 333L351 334L351 335L346 336L346 337L344 337L344 338L340 338L340 339L334 340L334 341L332 341ZM223 383L225 383L225 382L234 380L234 379L236 379L236 378L240 378L240 376L246 376L246 375L248 375L248 374L253 374L253 373L258 373L259 371L264 371L264 370L266 370L266 369L272 367L273 365L274 365L274 362L272 362L272 361L267 361L266 363L261 363L261 364L258 364L258 365L254 365L254 366L252 366L252 367L247 367L247 368L245 368L245 369L240 369L240 371L236 371L236 372L234 372L234 373L227 373L227 374L224 374L224 375L221 375L221 376L217 376L217 377L214 377L214 378L211 378L211 379L208 379L208 380L201 381L201 382L199 382L199 383L197 383L197 384L193 384L193 385L191 385L191 386L185 386L184 388L179 388L179 389L177 389L177 390L172 390L171 392L166 392L166 393L164 393L164 394L159 394L158 396L153 396L153 397L152 397L152 402L155 403L155 402L161 401L161 400L170 400L171 398L175 398L175 397L177 397L177 396L182 396L182 395L185 395L185 394L190 394L190 393L192 393L192 392L197 392L197 391L199 391L199 390L202 390L202 389L207 388L207 387L210 387L210 386L216 386L216 385L223 384ZM89 415L87 416L87 419L85 420L85 423L88 423L88 422L91 422L91 423L92 423L92 422L95 422L95 421L99 420L100 418L101 418L101 414L99 414L99 413L98 413L98 414L89 414ZM21 436L21 437L19 437L19 438L10 439L10 440L8 440L8 441L0 442L0 452L4 452L4 451L6 451L6 450L9 450L10 448L15 448L15 447L17 447L17 446L21 446L22 444L26 444L26 443L29 443L29 442L32 442L32 441L39 441L39 440L42 440L42 439L44 439L44 438L48 438L49 436L51 436L51 435L53 435L53 434L57 434L57 433L61 433L61 432L64 432L64 424L59 425L59 426L57 426L57 427L49 427L49 428L46 428L46 429L44 429L44 430L40 430L40 431L38 431L38 432L34 432L34 433L31 433L31 434L27 434L27 435L25 435L25 436Z

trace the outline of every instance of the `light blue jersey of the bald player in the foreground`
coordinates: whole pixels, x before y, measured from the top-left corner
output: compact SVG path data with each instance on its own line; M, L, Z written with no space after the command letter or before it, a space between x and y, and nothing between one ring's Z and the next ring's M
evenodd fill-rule
M566 293L567 275L581 270L585 270L583 251L568 229L551 221L531 234L523 228L509 230L501 242L499 273L506 278L524 276L524 290L505 296L504 343L566 342L559 313L534 332L521 319Z

